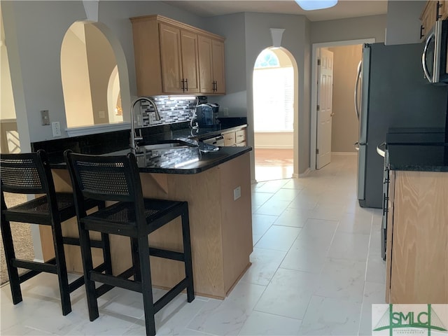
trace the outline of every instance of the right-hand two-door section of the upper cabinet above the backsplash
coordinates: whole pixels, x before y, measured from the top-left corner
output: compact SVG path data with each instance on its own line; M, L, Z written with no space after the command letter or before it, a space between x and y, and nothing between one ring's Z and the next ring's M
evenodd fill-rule
M225 93L224 43L199 36L200 91L209 94Z

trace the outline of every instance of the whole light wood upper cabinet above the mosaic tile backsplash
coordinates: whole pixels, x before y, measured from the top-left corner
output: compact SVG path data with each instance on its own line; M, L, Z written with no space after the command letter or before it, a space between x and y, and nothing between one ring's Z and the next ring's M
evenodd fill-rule
M225 94L223 37L161 15L130 20L139 96Z

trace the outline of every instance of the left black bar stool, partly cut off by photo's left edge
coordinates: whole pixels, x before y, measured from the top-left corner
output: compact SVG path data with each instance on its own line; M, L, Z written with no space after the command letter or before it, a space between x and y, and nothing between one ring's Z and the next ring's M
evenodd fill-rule
M44 151L1 154L0 177L1 237L3 239L13 303L18 304L22 302L20 283L31 279L41 272L57 274L62 314L65 316L71 311L70 293L84 284L83 276L79 276L78 279L69 283L64 254L64 244L80 246L78 238L62 236L61 223L76 216L73 194L55 192L50 165ZM6 207L3 192L43 195L36 197L34 200L8 208ZM86 200L85 207L87 209L104 207L104 202ZM46 262L34 262L15 258L10 222L51 226L55 258ZM104 262L97 269L111 274L109 237L102 235L102 240L92 241L91 246L103 249ZM19 275L19 267L29 269L29 271Z

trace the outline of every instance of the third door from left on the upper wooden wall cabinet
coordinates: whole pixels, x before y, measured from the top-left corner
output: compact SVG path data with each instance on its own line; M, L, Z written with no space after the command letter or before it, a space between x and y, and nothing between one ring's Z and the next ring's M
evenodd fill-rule
M214 93L211 38L199 36L200 92Z

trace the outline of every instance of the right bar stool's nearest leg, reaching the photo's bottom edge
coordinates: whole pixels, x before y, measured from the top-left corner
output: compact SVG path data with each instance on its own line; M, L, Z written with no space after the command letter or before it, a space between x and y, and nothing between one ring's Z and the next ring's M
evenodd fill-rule
M155 335L153 284L151 281L151 264L149 260L148 236L138 238L139 264L141 269L141 293L145 311L146 335ZM134 265L135 266L135 265Z

